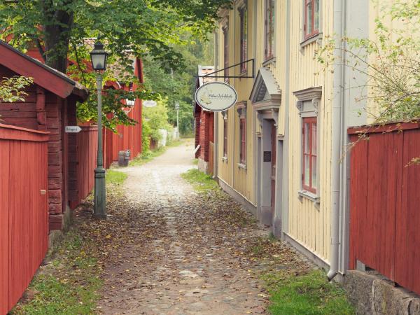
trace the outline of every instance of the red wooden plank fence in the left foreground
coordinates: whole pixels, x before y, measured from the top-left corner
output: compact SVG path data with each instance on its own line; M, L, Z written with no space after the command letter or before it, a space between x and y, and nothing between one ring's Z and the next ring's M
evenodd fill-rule
M0 314L48 249L48 132L0 124Z

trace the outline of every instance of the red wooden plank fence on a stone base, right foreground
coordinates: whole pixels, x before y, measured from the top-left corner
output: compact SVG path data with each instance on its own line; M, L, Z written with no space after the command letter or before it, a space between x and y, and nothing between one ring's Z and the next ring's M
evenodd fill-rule
M349 267L420 294L420 124L371 127L351 151ZM349 130L352 142L366 128Z

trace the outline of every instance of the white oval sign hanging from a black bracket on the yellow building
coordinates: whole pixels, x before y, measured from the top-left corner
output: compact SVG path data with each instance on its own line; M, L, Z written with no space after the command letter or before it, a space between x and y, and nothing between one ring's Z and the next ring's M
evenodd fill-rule
M237 99L235 89L223 82L209 82L195 91L195 102L208 111L225 111L234 106Z

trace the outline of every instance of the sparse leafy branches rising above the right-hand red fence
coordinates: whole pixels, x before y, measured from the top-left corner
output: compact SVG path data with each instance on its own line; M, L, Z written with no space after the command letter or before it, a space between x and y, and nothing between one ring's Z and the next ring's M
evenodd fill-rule
M420 29L420 1L395 0L380 12L376 38L327 38L318 60L326 68L344 64L366 78L356 101L367 103L374 123L420 118L420 36L412 31ZM393 27L383 21L392 21ZM345 52L345 59L337 57L337 50Z

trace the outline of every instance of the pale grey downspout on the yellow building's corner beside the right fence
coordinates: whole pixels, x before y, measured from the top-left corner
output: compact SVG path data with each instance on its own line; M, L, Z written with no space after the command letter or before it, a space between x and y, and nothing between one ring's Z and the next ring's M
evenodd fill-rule
M340 214L340 181L341 181L341 163L340 156L342 152L342 125L344 104L344 19L345 0L334 1L334 32L337 34L335 43L335 57L339 58L339 64L334 65L333 90L332 90L332 153L331 153L331 264L330 271L327 274L331 281L338 273L339 260L339 214Z

